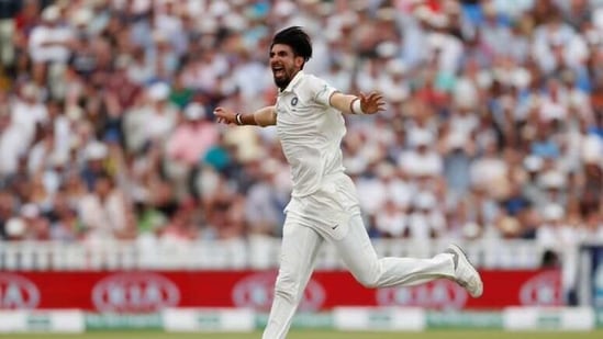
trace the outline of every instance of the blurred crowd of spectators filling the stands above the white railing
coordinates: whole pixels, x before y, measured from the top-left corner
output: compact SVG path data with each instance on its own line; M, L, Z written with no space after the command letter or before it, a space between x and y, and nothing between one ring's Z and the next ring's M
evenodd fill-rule
M0 2L0 237L278 237L272 34L387 111L343 143L369 234L603 240L603 1Z

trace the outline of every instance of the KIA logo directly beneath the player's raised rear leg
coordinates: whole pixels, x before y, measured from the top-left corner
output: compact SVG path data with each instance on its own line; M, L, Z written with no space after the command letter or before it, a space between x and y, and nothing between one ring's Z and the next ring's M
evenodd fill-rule
M467 292L449 280L433 281L412 287L389 287L377 291L380 306L411 306L459 309L467 303Z

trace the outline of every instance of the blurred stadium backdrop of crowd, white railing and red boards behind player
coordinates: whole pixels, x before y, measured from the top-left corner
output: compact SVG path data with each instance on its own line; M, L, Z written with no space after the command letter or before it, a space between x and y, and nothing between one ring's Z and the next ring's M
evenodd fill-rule
M273 102L291 24L388 101L343 144L379 253L460 242L485 281L369 291L327 248L295 331L602 326L603 1L5 0L0 331L263 327L288 167L211 112Z

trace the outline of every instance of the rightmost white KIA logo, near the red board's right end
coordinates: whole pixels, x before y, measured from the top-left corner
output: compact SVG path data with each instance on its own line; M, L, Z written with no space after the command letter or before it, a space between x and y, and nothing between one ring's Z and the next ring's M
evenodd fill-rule
M559 271L540 273L520 289L520 302L526 306L561 305L561 274Z

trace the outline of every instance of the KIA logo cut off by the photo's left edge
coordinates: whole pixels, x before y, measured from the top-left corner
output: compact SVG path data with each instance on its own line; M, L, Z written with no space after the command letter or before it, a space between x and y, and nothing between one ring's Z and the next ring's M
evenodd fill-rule
M31 309L40 304L40 291L21 275L0 273L0 308Z

